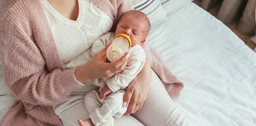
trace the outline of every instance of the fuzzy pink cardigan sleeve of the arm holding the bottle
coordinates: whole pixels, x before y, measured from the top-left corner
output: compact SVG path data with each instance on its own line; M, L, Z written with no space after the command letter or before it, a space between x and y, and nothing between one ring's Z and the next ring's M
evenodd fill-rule
M6 20L0 25L0 55L5 82L19 101L52 105L83 85L76 80L75 69L48 71L27 25Z

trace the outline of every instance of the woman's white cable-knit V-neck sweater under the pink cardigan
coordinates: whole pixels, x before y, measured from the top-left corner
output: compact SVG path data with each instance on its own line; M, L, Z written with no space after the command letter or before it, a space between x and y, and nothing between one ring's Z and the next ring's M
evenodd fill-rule
M47 0L41 0L41 3L64 68L83 66L91 58L93 42L111 29L112 19L91 0L78 0L79 13L76 21L62 16ZM85 84L75 92L96 88L91 84Z

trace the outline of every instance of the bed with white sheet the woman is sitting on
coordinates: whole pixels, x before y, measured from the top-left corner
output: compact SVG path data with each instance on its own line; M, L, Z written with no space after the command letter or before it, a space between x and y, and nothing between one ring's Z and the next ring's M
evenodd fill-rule
M147 39L183 82L175 103L191 125L256 125L256 53L221 21L189 2ZM15 98L0 101L2 118Z

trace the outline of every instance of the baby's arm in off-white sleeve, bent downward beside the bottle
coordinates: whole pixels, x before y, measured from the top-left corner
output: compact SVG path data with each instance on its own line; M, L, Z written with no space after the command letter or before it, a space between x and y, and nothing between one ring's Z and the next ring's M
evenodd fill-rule
M126 66L121 73L106 80L107 86L113 92L127 87L143 68L146 59L143 48L140 45L135 45L131 49L129 51L129 66Z

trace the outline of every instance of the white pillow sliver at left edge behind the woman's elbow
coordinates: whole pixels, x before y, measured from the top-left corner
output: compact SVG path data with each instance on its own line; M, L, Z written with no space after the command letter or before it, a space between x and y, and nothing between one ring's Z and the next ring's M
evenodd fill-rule
M2 68L1 59L0 59L0 96L6 95L6 94L12 94L12 93L11 93L11 90L5 84L3 68Z

